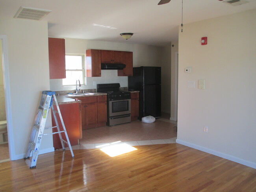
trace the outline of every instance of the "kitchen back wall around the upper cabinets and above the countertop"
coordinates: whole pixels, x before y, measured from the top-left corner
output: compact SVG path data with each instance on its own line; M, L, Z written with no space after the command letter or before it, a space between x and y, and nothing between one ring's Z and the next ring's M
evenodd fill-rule
M161 47L145 46L139 44L127 44L106 41L93 41L86 39L65 39L66 53L86 54L88 49L119 50L133 52L133 65L135 66L161 66ZM117 70L102 70L101 77L86 78L87 85L81 89L96 89L93 81L98 83L120 83L121 87L128 86L127 77L118 77ZM75 83L75 82L74 82ZM62 87L61 79L50 79L50 89L72 90L75 86Z

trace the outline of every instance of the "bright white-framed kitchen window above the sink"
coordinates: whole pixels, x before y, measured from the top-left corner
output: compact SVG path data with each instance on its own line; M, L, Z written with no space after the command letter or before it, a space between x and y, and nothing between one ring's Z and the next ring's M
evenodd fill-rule
M63 86L76 85L76 80L84 85L84 55L83 54L66 54L66 78L62 79Z

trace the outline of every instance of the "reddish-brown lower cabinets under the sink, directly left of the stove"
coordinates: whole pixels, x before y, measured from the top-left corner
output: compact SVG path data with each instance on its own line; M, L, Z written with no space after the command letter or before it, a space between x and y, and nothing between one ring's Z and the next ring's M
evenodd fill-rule
M107 96L79 97L82 108L82 129L105 126L107 122Z

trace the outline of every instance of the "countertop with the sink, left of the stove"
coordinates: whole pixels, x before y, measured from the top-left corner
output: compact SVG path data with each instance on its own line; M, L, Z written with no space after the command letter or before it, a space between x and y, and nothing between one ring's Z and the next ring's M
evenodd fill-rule
M69 104L69 103L81 103L80 100L76 100L75 98L79 97L92 97L92 96L101 96L101 95L107 95L106 93L100 93L100 92L94 92L93 95L74 95L70 96L68 94L65 95L56 95L56 99L59 105L61 104Z

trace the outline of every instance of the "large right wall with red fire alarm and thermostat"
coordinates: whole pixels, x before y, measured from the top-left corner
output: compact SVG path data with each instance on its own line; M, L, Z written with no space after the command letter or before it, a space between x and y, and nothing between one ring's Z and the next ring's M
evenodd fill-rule
M256 168L256 9L179 33L177 142ZM208 44L200 44L208 37ZM191 74L184 73L192 66ZM206 89L197 88L206 79ZM188 88L195 81L196 88ZM209 133L204 133L209 126Z

